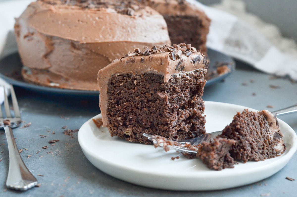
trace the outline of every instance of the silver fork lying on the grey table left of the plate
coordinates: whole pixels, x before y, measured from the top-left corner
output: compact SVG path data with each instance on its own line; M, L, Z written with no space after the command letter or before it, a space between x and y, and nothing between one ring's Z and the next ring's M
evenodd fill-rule
M6 186L15 190L28 190L37 185L37 179L31 174L26 165L24 164L18 147L15 143L15 138L12 133L12 128L16 128L21 123L20 110L18 101L15 96L15 91L10 86L10 94L12 99L12 106L14 110L14 118L12 118L8 98L4 90L4 108L6 117L2 114L0 106L0 129L3 128L7 138L8 152L9 152L9 170L6 180Z

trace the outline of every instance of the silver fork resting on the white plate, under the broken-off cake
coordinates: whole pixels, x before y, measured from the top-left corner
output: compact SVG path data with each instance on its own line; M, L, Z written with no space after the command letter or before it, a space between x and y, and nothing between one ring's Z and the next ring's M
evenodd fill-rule
M291 114L291 113L296 113L297 112L297 104L290 106L290 107L286 107L284 109L281 110L277 110L274 112L271 112L272 114L277 114L277 116L282 116L282 115L287 115L287 114ZM197 151L194 150L189 150L186 146L186 143L189 143L191 145L198 145L203 141L210 141L211 139L214 139L214 137L216 137L217 135L222 134L222 131L216 131L216 132L211 132L211 133L207 133L206 135L201 135L199 137L195 137L192 139L187 139L187 140L180 140L177 143L179 143L178 145L165 145L168 148L172 148L178 152L181 153L186 153L186 154L192 154L192 155L196 155ZM148 140L151 140L154 145L156 146L164 146L164 143L160 140L158 140L158 137L155 135L149 135L146 133L143 133L143 136L147 137ZM166 143L165 143L166 144Z

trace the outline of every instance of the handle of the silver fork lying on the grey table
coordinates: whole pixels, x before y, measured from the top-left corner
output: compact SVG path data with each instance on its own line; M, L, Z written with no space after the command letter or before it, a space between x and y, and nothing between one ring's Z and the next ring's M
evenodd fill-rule
M37 179L24 164L10 126L4 126L9 151L9 170L6 186L15 190L28 190L37 185Z

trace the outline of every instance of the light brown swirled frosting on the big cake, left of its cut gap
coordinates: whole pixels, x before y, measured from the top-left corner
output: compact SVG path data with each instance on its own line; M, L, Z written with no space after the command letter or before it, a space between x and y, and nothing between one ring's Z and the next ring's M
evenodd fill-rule
M15 23L24 78L42 85L98 90L98 70L124 52L170 43L162 15L136 1L121 2L32 2Z

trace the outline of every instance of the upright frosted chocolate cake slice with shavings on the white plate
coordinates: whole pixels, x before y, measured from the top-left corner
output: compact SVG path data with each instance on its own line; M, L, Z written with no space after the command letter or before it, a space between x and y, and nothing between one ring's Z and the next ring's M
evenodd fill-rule
M203 88L209 62L191 45L135 49L98 72L99 107L111 136L151 143L205 134Z

